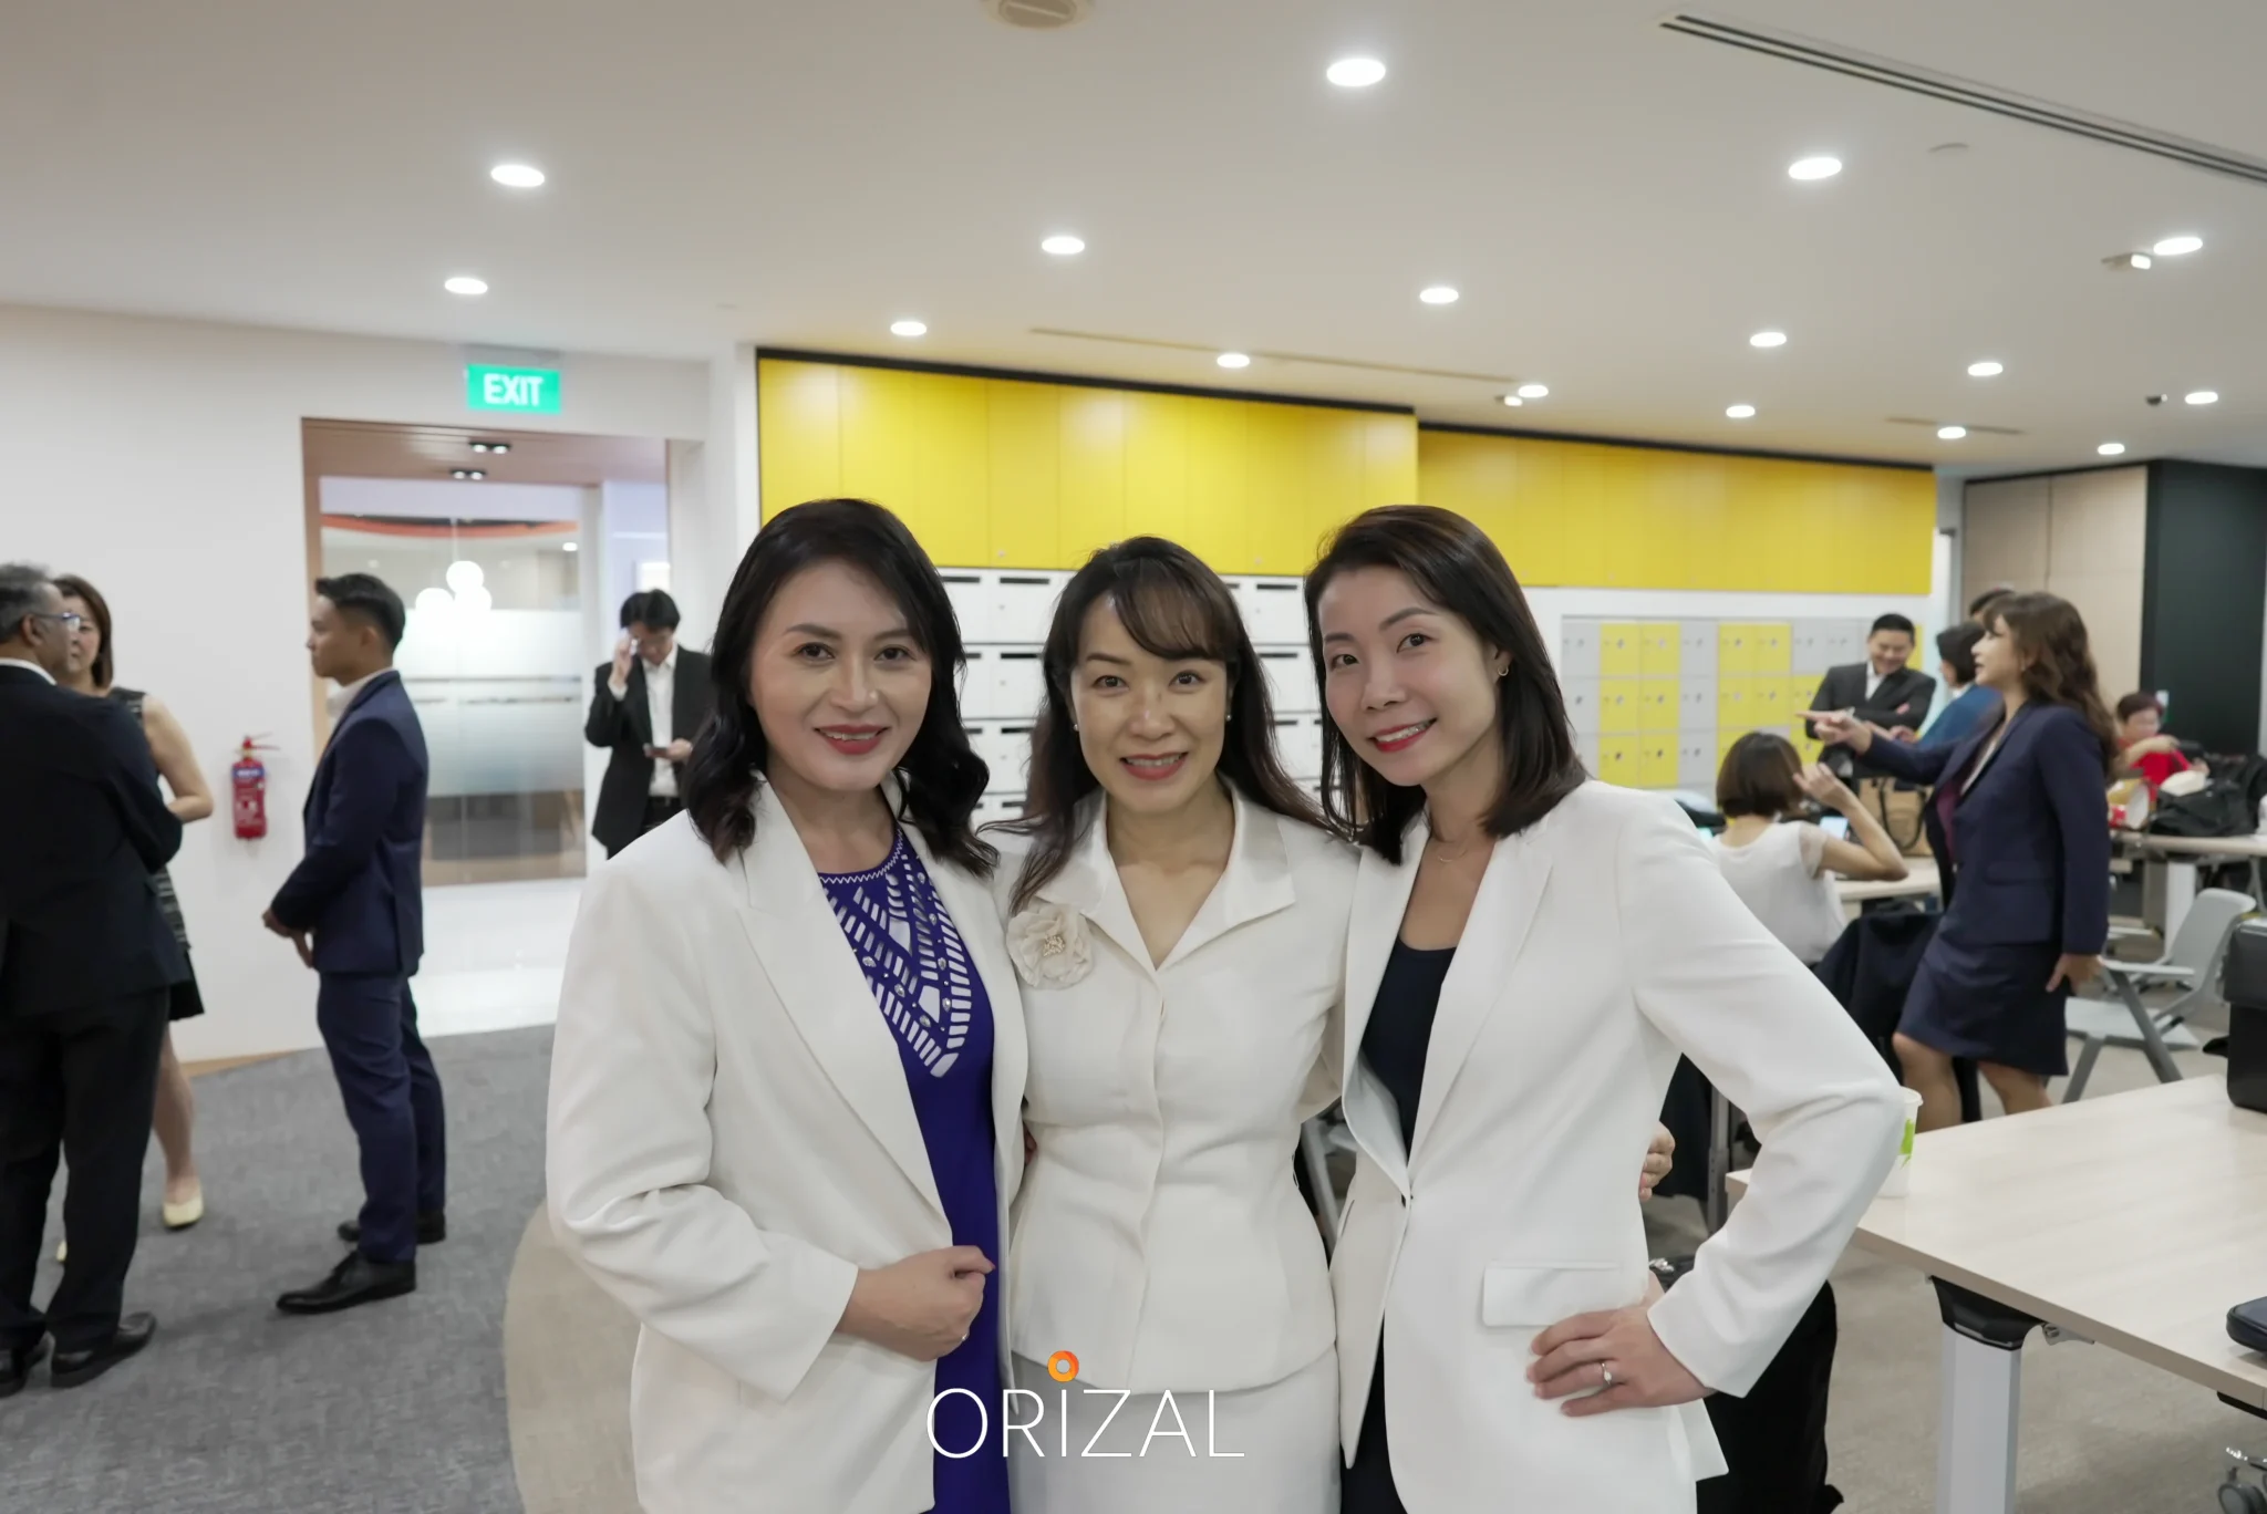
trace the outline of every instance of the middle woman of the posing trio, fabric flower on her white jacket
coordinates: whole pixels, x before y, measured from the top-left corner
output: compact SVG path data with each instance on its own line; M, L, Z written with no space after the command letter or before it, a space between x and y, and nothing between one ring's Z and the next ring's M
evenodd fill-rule
M1186 548L1095 553L1045 678L993 875L1036 1140L1016 1514L1333 1509L1331 1283L1292 1154L1338 1095L1353 850L1285 777L1236 598Z

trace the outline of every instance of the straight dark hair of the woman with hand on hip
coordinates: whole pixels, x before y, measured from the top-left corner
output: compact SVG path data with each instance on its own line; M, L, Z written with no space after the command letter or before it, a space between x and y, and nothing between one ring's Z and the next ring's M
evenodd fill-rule
M1340 573L1394 569L1419 598L1471 626L1489 648L1508 653L1510 671L1496 680L1496 743L1503 748L1503 786L1487 811L1487 834L1501 841L1551 814L1582 786L1566 700L1528 596L1512 567L1478 526L1435 505L1365 510L1331 537L1322 562L1306 576L1306 635L1315 680L1328 689L1322 650L1322 594ZM1401 861L1401 839L1424 809L1421 789L1385 782L1365 764L1338 721L1322 723L1322 807L1356 841L1385 861Z

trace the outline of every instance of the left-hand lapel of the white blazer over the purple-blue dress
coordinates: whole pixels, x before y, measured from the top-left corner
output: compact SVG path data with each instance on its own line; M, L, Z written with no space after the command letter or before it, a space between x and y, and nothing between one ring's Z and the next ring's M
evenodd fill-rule
M882 1020L873 986L818 886L818 870L769 784L757 786L755 841L739 866L746 877L741 925L796 1031L914 1190L943 1215L898 1038Z

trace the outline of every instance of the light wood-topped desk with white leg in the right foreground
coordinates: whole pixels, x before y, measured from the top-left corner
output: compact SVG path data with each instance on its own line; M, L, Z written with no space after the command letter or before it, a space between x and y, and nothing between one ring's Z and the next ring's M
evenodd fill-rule
M2219 1077L1920 1136L1911 1194L1875 1199L1857 1244L1936 1283L1936 1514L2013 1512L2038 1324L2267 1414L2267 1355L2226 1333L2228 1308L2267 1292L2262 1192L2267 1115Z

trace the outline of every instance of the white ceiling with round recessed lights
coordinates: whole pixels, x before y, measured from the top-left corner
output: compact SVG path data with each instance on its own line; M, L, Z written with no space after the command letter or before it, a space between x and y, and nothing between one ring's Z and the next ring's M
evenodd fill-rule
M2267 156L2247 0L1718 11ZM0 299L730 340L2002 471L2267 462L2267 186L1657 29L1662 0L14 5ZM1322 68L1374 52L1367 93ZM1938 143L1965 154L1931 154ZM1834 152L1827 184L1784 177ZM508 193L490 163L549 170ZM1075 229L1088 252L1047 258ZM2151 274L2102 258L2174 231ZM462 301L447 274L494 292ZM1426 283L1462 301L1428 308ZM891 338L918 315L929 335ZM1036 335L1317 354L1501 385ZM1750 331L1784 329L1775 354ZM1995 381L1965 376L1999 358ZM2219 406L2142 394L2215 388ZM1750 401L1755 422L1723 419ZM1959 444L1886 417L2011 426Z

